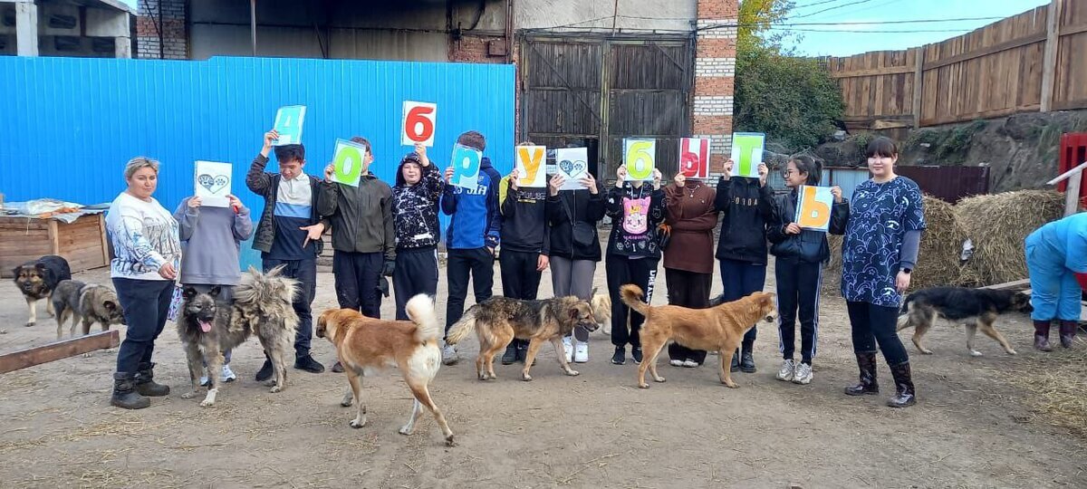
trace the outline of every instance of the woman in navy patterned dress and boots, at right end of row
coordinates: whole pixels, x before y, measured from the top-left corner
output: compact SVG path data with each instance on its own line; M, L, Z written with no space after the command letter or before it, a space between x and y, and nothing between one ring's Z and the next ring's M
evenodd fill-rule
M895 174L898 149L879 137L867 147L872 178L853 191L842 242L841 294L849 309L853 352L860 384L846 388L849 396L875 394L876 344L895 378L891 408L916 402L910 376L910 358L896 334L902 293L917 261L925 214L921 189Z

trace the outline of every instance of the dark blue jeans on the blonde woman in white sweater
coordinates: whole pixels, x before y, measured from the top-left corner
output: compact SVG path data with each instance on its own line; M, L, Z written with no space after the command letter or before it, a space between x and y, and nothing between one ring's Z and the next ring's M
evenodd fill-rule
M113 278L117 300L125 311L125 340L117 349L117 373L135 374L141 364L151 363L154 340L166 326L174 280Z

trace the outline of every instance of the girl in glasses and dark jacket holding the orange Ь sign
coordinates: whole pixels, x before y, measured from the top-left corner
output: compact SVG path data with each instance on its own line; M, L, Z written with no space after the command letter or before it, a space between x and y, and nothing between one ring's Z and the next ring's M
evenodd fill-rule
M774 275L777 278L777 333L780 338L782 368L777 379L794 384L812 380L812 359L819 337L819 294L823 286L823 265L830 258L826 233L801 229L797 224L799 189L819 185L823 167L811 156L800 155L789 160L785 168L785 186L789 193L774 198L774 218L766 235L770 253L775 256ZM841 199L841 189L830 189L835 203L830 212L830 231L841 234L848 218L848 204ZM800 363L792 355L796 351L796 319L800 311Z

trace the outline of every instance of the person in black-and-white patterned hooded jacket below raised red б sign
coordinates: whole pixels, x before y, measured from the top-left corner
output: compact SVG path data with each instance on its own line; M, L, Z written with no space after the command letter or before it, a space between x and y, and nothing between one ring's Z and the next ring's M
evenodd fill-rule
M397 264L392 272L397 319L407 321L404 306L418 293L438 293L438 200L446 188L437 166L426 158L426 147L404 155L392 187Z

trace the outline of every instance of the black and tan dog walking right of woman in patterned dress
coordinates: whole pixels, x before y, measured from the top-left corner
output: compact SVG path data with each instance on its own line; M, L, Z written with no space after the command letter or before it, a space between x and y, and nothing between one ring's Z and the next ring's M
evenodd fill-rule
M913 327L913 344L924 354L933 351L921 343L922 337L933 327L937 317L961 323L966 326L966 349L973 356L982 356L974 349L974 335L978 330L997 340L1010 355L1015 354L1008 340L992 323L1007 312L1029 313L1030 296L1023 292L994 289L967 289L963 287L935 287L911 293L902 302L898 317L898 330Z

